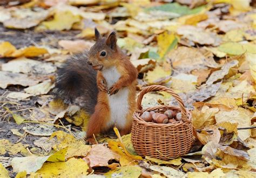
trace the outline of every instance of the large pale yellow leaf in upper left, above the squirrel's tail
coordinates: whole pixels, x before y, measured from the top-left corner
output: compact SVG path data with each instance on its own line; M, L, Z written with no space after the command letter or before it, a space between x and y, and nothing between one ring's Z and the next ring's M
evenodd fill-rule
M73 15L70 11L57 11L53 20L42 24L49 30L70 30L72 25L79 21L79 15Z

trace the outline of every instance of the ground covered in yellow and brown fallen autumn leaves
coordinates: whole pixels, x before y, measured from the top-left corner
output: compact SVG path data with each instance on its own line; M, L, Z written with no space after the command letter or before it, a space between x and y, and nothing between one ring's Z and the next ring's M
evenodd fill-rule
M253 3L177 2L1 7L0 176L255 177ZM190 153L143 159L131 135L117 138L116 129L86 145L89 116L53 101L56 68L90 48L95 26L104 34L117 30L118 45L140 72L138 92L163 84L181 96L196 129ZM143 99L144 108L164 103L177 105L163 92Z

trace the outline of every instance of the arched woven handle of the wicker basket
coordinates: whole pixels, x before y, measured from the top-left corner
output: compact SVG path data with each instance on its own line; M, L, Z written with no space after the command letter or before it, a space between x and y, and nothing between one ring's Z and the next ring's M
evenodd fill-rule
M140 91L138 99L137 99L137 110L142 111L143 96L146 93L150 92L150 91L165 91L165 92L171 94L174 98L177 99L177 101L179 103L179 107L180 107L180 110L181 110L181 119L183 121L187 120L187 112L186 112L185 105L184 105L182 99L172 89L167 88L165 86L152 85L152 86L149 86L149 87L145 87L142 91Z

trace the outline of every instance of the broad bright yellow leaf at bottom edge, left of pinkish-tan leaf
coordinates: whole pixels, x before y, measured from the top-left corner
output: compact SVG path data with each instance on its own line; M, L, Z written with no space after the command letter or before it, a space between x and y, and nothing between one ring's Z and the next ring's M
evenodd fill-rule
M71 158L66 162L46 162L37 170L37 176L42 177L82 177L87 175L87 163L82 159Z

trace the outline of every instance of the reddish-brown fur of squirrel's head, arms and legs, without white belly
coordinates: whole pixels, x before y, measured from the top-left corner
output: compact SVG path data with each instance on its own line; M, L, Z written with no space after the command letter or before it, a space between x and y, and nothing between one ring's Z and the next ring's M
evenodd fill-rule
M104 79L102 72L98 71L97 73L97 82L95 81L99 89L99 92L95 92L96 94L98 94L97 104L95 106L95 111L91 115L89 124L87 126L88 129L86 132L87 140L89 140L91 143L95 143L92 137L93 134L96 135L100 132L105 132L113 127L113 125L110 126L107 124L108 122L110 122L111 118L110 106L107 95L114 95L118 92L119 89L123 87L128 87L129 89L129 111L127 112L125 127L118 129L121 135L130 133L132 126L132 114L136 109L136 79L138 75L137 69L132 65L129 58L117 46L117 38L115 32L112 32L106 39L102 38L96 29L95 36L96 43L91 47L88 53L89 63L93 67L97 66L96 68L101 70L115 66L121 76L119 80L113 84L112 87L107 88L106 80ZM102 52L105 52L106 55L102 56ZM98 68L98 66L100 67ZM72 67L70 67L69 70L71 70L71 68ZM76 70L76 68L74 70ZM90 86L90 83L86 84L87 86Z

